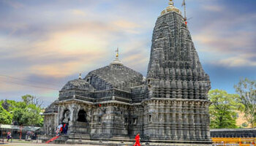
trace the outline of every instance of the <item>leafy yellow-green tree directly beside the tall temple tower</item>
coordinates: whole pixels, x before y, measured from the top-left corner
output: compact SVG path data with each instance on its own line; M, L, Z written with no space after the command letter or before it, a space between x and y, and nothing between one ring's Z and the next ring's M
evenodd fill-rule
M209 107L210 127L237 128L236 110L244 108L242 104L239 104L238 94L229 94L227 91L215 89L209 91L208 95L212 102Z

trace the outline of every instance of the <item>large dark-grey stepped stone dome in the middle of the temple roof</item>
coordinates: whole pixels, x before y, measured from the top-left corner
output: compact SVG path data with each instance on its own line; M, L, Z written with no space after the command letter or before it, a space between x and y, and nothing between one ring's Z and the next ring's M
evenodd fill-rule
M143 84L143 75L123 64L112 63L109 66L89 72L84 80L89 82L97 91L111 88L130 91L130 88Z

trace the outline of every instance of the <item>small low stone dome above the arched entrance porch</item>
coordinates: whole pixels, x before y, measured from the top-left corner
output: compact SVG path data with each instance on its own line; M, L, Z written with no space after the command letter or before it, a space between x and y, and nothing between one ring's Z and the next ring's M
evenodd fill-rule
M94 91L94 88L89 84L89 82L86 82L86 80L83 80L83 79L70 80L69 82L67 82L66 85L64 85L61 91L70 90L70 89Z

